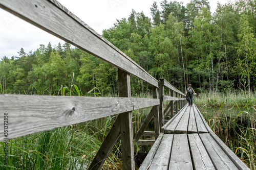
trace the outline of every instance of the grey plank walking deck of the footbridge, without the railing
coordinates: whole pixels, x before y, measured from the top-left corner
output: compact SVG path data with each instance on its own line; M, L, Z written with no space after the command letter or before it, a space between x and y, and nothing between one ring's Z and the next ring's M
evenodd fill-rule
M195 105L183 107L163 126L162 132L161 141L158 138L153 145L154 154L150 152L143 162L147 166L142 164L139 170L249 169L211 131Z

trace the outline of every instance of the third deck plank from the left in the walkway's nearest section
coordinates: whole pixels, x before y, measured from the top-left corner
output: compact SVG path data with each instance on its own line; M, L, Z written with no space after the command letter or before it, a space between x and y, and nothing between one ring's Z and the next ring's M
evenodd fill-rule
M187 134L174 135L172 155L170 155L169 163L169 170L173 169L193 170Z

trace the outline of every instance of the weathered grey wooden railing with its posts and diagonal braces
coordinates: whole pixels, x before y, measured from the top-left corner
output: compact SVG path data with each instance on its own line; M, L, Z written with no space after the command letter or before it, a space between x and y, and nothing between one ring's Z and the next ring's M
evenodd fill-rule
M181 107L182 103L184 104L184 93L164 79L158 82L116 46L55 0L1 0L0 8L117 66L119 82L119 98L0 95L0 111L7 112L10 117L8 138L119 114L89 169L101 168L119 136L121 137L122 168L135 169L131 111L153 106L141 130L138 131L135 141L138 141L141 132L144 131L143 127L153 117L155 121L154 135L157 138L162 127L162 113L166 113L170 108L169 113L173 115L173 106L176 106L177 113L178 106ZM153 99L131 98L130 74L152 85ZM163 95L164 86L170 89L171 96ZM174 92L176 97L174 97ZM167 106L167 110L165 109L163 112L162 103L166 100L171 102ZM4 127L3 123L3 121L0 122L1 128ZM0 133L0 140L5 138L7 137L4 136L4 133Z

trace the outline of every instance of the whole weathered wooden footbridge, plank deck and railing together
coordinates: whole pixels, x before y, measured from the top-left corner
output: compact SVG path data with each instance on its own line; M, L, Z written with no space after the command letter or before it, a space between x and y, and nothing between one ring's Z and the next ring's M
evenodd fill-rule
M135 169L134 142L153 144L140 169L249 169L210 130L197 107L186 105L184 93L156 80L56 0L1 0L0 8L118 67L119 82L119 98L0 95L0 111L10 116L8 139L118 114L89 169L101 169L119 137L124 170ZM152 86L152 99L131 97L130 75ZM169 101L166 108L163 101ZM134 137L132 110L145 107L152 109ZM155 131L146 132L152 119ZM0 127L5 140L3 121ZM140 140L141 135L156 140Z

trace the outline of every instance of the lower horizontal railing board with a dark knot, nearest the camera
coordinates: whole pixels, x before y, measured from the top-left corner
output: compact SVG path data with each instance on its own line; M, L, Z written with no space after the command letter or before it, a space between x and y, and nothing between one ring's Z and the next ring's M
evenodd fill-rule
M158 99L142 98L0 95L0 111L12 117L9 139L158 104Z

